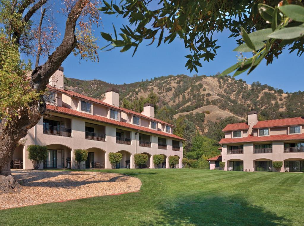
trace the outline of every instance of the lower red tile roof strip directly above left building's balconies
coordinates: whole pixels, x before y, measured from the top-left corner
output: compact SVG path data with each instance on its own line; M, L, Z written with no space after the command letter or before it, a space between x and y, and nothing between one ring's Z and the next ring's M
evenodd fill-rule
M86 114L86 113L79 112L79 111L76 111L76 110L72 110L72 109L69 109L69 108L58 107L58 106L53 106L53 105L47 104L47 110L53 111L53 112L58 112L58 113L65 114L65 115L72 115L72 116L75 116L75 117L87 118L87 119L90 119L90 120L94 120L94 121L98 121L98 122L104 122L104 123L117 125L117 126L121 126L121 127L125 127L125 128L135 129L135 130L139 130L139 131L142 131L142 132L149 132L149 133L153 133L153 134L157 134L157 135L171 137L171 138L174 138L174 139L185 140L184 138L181 138L181 137L179 137L177 135L174 135L174 134L168 134L168 133L165 133L165 132L161 132L161 131L157 131L157 130L153 130L153 129L129 124L129 123L126 123L126 122L119 122L119 121L115 121L115 120L105 118L105 117L102 117L102 116L90 115L90 114Z

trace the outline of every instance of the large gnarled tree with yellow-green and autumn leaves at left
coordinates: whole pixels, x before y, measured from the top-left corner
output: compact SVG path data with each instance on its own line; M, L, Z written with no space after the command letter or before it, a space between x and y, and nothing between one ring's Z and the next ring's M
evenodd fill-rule
M52 74L70 53L98 60L92 24L100 19L99 0L0 0L0 175L20 139L46 110L43 94ZM61 5L61 9L55 5ZM66 16L64 33L54 13ZM30 60L36 57L33 69ZM41 56L41 59L40 59ZM43 60L42 60L43 58Z

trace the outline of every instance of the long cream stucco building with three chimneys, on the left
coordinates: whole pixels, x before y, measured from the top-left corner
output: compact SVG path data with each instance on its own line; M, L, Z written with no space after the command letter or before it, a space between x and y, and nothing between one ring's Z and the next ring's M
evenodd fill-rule
M81 164L85 168L95 167L96 162L102 168L111 168L109 152L123 154L117 168L133 168L135 153L148 155L149 168L154 168L154 154L164 155L164 163L159 167L166 168L169 168L168 157L178 156L181 168L184 139L173 134L173 125L154 118L152 104L145 104L143 112L137 113L121 108L119 92L112 88L106 91L104 100L67 91L62 67L51 77L45 99L46 113L29 130L25 142L12 157L23 161L23 168L33 168L28 159L30 144L48 148L47 161L40 168L74 169L75 149L88 150L88 160Z

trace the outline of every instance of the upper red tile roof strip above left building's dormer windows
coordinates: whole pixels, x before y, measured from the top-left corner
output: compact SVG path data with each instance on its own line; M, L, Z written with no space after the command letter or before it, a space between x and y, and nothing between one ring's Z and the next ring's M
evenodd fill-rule
M159 119L157 119L157 118L150 118L150 117L148 117L148 116L146 116L146 115L143 115L143 114L140 114L140 113L138 113L138 112L136 112L136 111L131 111L131 110L126 109L126 108L116 107L116 106L113 106L113 105L111 105L111 104L105 103L105 102L103 101L104 99L103 99L103 100L98 100L98 99L95 99L95 98L92 98L92 97L88 97L88 96L85 96L85 95L82 95L82 94L79 94L79 93L76 93L76 92L73 92L73 91L62 90L62 89L58 89L58 88L52 87L52 86L47 86L47 87L48 87L49 89L54 90L54 91L59 91L59 92L61 92L61 93L68 94L68 95L70 95L70 96L72 96L72 97L82 98L82 99L85 99L85 100L88 100L88 101L92 101L92 102L97 103L97 104L102 104L102 105L104 105L104 106L107 106L107 107L110 107L110 108L117 109L117 110L119 110L119 111L124 111L124 112L126 112L126 113L128 113L128 114L138 115L138 116L140 116L140 117L142 117L142 118L147 118L147 119L150 119L150 120L155 121L155 122L159 122L159 123L162 123L162 124L165 124L165 125L169 125L169 126L172 126L172 127L176 127L176 126L174 126L174 125L171 125L171 124L169 124L169 123L167 123L167 122L164 122L164 121L162 121L162 120L159 120Z

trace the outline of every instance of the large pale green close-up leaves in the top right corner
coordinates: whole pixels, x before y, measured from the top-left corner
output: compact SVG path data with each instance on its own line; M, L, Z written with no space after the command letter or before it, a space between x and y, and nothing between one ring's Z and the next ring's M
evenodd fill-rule
M264 58L267 59L267 64L271 63L273 56L278 58L288 47L290 53L297 50L297 55L301 56L304 52L304 7L301 2L295 1L297 5L294 5L284 0L275 7L258 4L258 12L268 26L252 33L247 33L246 29L241 27L243 44L234 49L237 52L251 52L253 56L246 58L240 53L238 62L223 71L222 75L233 71L233 76L245 71L250 74Z

